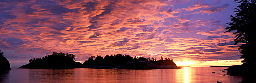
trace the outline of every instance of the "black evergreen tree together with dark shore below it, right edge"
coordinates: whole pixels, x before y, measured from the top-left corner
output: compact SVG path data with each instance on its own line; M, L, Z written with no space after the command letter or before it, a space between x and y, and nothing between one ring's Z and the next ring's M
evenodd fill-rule
M234 15L230 15L231 21L227 23L226 32L233 32L236 34L236 39L234 39L236 45L237 43L243 43L238 50L240 50L241 58L243 64L239 66L231 66L228 69L227 74L231 76L242 76L244 78L243 82L254 81L254 74L256 74L254 66L256 64L256 55L254 51L256 50L256 34L255 34L255 23L256 23L256 1L255 0L234 0L238 5L235 8Z

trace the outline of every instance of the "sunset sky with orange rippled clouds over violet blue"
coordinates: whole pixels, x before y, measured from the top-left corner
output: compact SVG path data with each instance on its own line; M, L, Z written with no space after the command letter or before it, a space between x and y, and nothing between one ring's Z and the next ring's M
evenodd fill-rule
M224 33L233 0L1 0L0 50L11 67L52 52L173 58L177 66L240 65ZM182 65L184 64L184 65Z

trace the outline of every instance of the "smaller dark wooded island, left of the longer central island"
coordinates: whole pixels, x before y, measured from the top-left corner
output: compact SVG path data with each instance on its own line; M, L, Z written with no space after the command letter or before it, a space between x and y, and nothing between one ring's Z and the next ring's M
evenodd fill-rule
M19 68L29 69L67 69L80 68L82 64L75 61L75 55L53 52L52 55L47 55L42 58L33 58L29 63Z

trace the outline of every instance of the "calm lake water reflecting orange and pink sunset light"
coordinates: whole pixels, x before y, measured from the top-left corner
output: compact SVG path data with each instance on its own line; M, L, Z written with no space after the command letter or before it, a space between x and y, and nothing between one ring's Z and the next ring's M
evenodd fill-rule
M0 82L241 82L229 76L228 67L183 67L181 69L17 69L0 74ZM215 73L211 73L215 72Z

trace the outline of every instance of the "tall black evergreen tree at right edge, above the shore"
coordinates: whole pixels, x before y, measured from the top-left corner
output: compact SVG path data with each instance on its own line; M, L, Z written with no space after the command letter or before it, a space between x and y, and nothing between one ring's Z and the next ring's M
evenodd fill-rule
M228 27L226 27L227 31L225 32L233 32L236 34L236 39L234 39L236 45L237 43L243 43L238 50L241 50L240 53L241 58L244 58L242 61L246 64L255 64L255 54L256 50L256 38L254 27L256 23L256 4L255 0L234 0L237 3L241 3L238 5L238 8L235 8L236 13L234 15L230 15L231 21L227 23Z

